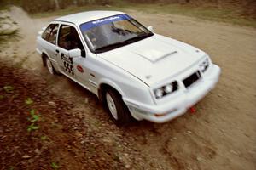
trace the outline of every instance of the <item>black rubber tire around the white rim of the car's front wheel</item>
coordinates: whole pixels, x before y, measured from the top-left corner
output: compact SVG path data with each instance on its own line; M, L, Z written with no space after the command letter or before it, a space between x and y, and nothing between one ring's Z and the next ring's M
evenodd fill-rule
M117 119L113 116L113 114L110 111L111 109L108 106L108 101L107 101L108 94L110 94L111 98L113 99L113 103L116 107ZM122 96L117 91L113 90L112 88L108 88L104 93L104 97L105 97L104 103L108 110L109 116L111 117L111 119L116 125L118 125L119 127L125 126L134 120L134 118L131 116L131 113L128 107L125 105L122 99Z

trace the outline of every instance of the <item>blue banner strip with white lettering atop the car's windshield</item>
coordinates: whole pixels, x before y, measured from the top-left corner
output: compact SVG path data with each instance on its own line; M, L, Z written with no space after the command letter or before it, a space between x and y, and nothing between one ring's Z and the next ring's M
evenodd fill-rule
M129 19L130 19L130 17L127 14L119 14L119 15L103 18L100 20L93 20L90 22L86 22L86 23L82 24L80 26L80 28L82 31L86 31L86 30L90 30L91 28L94 28L96 26L102 26L102 25L112 23L114 21L129 20Z

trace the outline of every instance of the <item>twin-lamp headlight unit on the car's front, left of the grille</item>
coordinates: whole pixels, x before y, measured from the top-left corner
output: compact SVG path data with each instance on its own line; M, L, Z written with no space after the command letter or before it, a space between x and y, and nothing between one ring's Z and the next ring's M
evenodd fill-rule
M172 94L177 90L177 81L171 82L160 88L154 89L154 96L156 99L160 99L167 94Z

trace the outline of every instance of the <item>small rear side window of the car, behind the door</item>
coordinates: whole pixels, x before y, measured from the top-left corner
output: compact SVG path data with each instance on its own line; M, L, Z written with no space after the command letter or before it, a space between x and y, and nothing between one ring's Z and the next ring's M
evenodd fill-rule
M56 37L59 25L58 24L51 24L49 25L46 30L42 34L42 38L48 42L56 44Z

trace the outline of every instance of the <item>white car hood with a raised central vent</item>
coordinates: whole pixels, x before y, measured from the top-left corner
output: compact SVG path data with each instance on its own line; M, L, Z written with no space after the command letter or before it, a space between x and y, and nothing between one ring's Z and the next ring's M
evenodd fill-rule
M186 70L206 54L186 43L154 34L97 55L152 86Z

